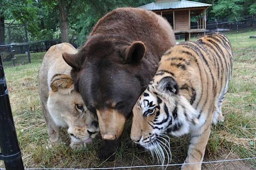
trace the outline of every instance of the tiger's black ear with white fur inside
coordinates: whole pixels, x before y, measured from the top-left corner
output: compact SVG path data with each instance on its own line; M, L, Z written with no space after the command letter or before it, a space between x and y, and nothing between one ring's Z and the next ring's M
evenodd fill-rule
M158 83L158 90L162 92L178 94L179 86L172 77L164 77Z

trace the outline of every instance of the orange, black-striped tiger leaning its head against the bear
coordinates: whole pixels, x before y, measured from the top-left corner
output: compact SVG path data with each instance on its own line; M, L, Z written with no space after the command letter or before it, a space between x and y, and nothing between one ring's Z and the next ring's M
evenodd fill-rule
M201 170L212 124L224 121L222 102L232 68L232 46L222 33L170 48L134 105L132 141L156 154L164 164L164 152L170 154L165 137L188 133L190 143L181 170Z

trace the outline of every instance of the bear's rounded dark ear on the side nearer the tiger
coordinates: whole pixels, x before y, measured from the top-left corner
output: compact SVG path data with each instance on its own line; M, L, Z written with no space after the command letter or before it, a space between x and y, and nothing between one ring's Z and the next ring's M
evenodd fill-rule
M146 53L146 46L141 41L133 42L125 50L125 60L128 63L137 63L140 61Z

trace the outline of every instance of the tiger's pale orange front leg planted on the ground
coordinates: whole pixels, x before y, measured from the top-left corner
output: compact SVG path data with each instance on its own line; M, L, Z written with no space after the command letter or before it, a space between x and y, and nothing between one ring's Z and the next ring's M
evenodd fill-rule
M187 158L184 163L202 162L211 126L212 120L207 120L200 130L191 132ZM183 165L181 170L201 170L201 164Z

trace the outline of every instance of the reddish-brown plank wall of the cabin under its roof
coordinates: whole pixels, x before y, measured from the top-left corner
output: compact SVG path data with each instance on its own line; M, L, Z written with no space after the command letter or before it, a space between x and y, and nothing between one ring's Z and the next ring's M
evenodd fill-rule
M189 10L175 11L175 30L189 28Z

